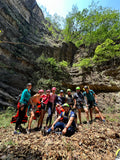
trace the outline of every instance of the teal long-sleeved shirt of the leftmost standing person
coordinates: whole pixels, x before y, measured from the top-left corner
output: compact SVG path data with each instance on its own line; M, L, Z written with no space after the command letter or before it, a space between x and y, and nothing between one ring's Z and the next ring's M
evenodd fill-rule
M31 91L28 91L28 89L24 89L20 98L20 103L28 104L30 97L31 97Z

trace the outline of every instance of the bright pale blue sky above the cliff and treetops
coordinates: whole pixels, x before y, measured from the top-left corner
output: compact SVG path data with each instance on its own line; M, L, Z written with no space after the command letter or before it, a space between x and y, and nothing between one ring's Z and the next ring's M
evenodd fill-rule
M38 5L46 7L47 11L54 15L57 13L59 16L66 17L72 10L73 5L77 5L79 10L88 8L92 0L36 0ZM120 10L120 0L94 0L103 7L110 7L112 9Z

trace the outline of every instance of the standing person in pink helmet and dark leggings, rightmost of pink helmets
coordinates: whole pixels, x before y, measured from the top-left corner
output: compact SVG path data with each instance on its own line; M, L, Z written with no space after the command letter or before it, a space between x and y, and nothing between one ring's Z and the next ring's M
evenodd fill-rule
M46 126L51 126L51 122L52 122L52 115L54 113L55 110L55 104L56 104L56 87L52 88L52 93L50 93L50 98L49 98L49 102L48 102L48 116L46 119Z

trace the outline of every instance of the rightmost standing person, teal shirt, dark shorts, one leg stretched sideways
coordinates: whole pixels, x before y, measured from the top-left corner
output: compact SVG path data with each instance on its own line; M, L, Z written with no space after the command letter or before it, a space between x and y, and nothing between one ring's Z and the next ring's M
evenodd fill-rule
M92 118L92 110L93 110L93 107L95 108L95 110L99 113L101 119L103 122L105 122L105 119L104 117L102 116L102 113L99 111L98 107L97 107L97 96L95 94L95 92L92 90L92 89L89 89L88 86L84 86L84 92L83 92L83 96L84 96L84 99L85 99L85 104L86 106L89 108L90 110L90 118L91 118L91 122L93 120Z

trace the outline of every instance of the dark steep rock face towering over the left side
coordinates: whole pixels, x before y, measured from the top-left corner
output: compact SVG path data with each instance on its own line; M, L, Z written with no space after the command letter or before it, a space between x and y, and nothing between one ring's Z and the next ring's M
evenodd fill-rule
M56 41L46 23L36 0L0 1L0 105L13 105L27 82L36 85L34 79L41 78L34 74L36 59L42 54L72 64L77 48Z

